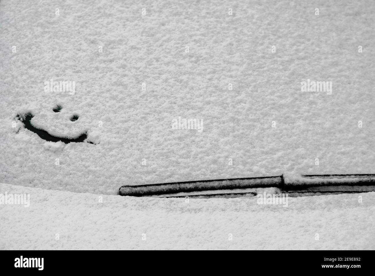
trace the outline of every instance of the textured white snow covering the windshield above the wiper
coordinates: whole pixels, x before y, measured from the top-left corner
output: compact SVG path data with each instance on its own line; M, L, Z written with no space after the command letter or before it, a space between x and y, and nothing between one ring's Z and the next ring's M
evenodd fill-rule
M123 185L375 173L374 14L365 0L3 0L0 181L115 195ZM75 81L75 94L45 92L50 79ZM301 92L307 79L332 81L332 95ZM52 146L15 120L27 111L52 135L87 131L96 145ZM202 119L203 131L172 129L178 116Z

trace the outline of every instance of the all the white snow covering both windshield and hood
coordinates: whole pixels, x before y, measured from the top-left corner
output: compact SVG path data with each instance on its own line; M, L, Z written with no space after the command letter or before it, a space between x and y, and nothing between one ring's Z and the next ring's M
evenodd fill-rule
M0 193L31 204L0 204L0 249L374 249L374 193L288 208L117 196L124 185L375 173L374 14L366 0L2 0ZM51 79L74 93L46 92ZM332 81L332 94L302 92L307 80ZM16 118L27 113L94 144L46 142ZM174 129L180 117L202 131Z

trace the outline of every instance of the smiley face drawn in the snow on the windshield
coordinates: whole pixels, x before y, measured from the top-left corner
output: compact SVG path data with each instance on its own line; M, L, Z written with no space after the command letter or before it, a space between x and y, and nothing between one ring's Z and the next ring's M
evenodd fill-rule
M54 112L60 112L60 110L62 110L62 106L57 105L52 110ZM23 115L18 114L16 116L16 119L19 119L24 124L24 127L26 129L32 131L33 133L36 133L40 138L42 138L43 140L49 141L49 142L59 142L59 141L61 141L61 142L64 142L66 144L71 143L71 142L74 142L74 143L87 142L87 143L90 143L90 144L94 144L93 142L86 141L87 131L85 131L84 133L80 134L78 137L75 137L75 138L67 138L67 137L63 137L63 136L51 135L46 130L34 127L34 125L31 124L31 119L33 117L34 117L34 115L29 112L29 113L26 113L26 114L23 114ZM78 115L72 115L70 120L72 122L74 122L74 121L77 121L78 118L79 118Z

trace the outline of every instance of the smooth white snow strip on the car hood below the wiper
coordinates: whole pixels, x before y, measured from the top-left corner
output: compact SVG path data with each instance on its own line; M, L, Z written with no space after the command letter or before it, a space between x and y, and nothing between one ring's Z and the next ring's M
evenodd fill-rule
M0 249L375 249L375 192L289 198L285 208L256 197L186 202L9 184L0 191L30 194L28 208L0 205Z

